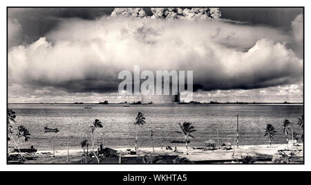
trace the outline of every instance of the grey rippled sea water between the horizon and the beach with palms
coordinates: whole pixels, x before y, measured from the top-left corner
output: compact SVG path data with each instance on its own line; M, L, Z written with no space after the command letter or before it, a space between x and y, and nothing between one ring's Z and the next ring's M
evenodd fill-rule
M84 107L92 109L84 109ZM276 128L272 143L285 143L282 123L285 118L294 123L294 131L303 130L296 125L303 114L303 105L73 105L73 104L9 104L16 112L16 125L24 125L30 130L27 143L23 147L34 146L39 150L66 149L69 137L70 148L80 148L80 142L88 139L91 143L91 129L95 118L102 121L103 128L96 132L97 143L104 142L105 147L134 148L136 127L135 116L142 112L146 124L138 128L138 146L151 146L153 142L160 146L184 146L170 143L171 139L184 139L178 123L192 122L196 128L189 146L203 146L204 141L234 143L236 137L236 114L238 114L240 145L268 144L264 132L267 123ZM57 127L58 133L45 133L44 127ZM90 144L91 148L91 144Z

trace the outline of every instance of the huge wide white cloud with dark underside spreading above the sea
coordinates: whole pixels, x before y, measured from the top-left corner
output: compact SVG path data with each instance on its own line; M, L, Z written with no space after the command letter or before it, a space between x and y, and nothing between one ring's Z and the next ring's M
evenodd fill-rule
M288 48L291 35L281 30L200 19L137 19L140 10L129 12L135 16L66 19L46 37L12 47L9 83L109 92L117 90L118 72L133 71L134 64L141 70L193 70L195 88L205 90L271 87L302 78L303 61Z

